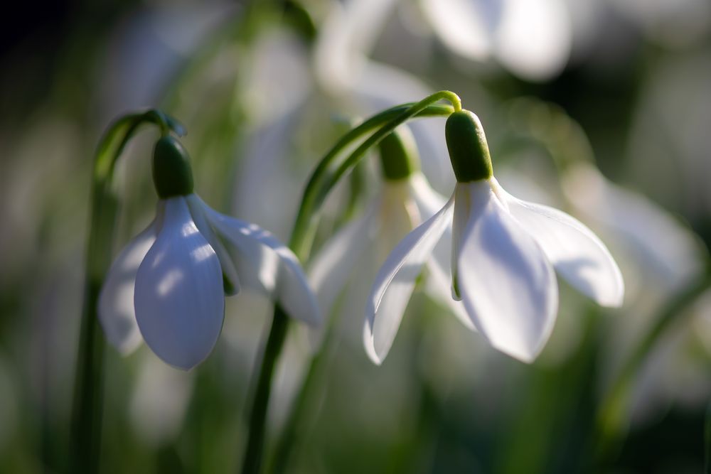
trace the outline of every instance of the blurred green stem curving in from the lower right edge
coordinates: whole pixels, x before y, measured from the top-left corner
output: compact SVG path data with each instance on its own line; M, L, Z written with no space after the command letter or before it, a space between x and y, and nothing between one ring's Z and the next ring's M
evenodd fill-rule
M647 355L662 336L675 324L680 323L683 311L694 303L697 298L711 286L711 267L707 264L706 272L694 284L678 293L671 299L646 336L638 343L629 356L619 374L611 384L597 409L596 433L593 439L595 456L599 463L603 463L612 453L616 442L619 441L621 425L629 402L629 391L639 372L641 365L646 361Z

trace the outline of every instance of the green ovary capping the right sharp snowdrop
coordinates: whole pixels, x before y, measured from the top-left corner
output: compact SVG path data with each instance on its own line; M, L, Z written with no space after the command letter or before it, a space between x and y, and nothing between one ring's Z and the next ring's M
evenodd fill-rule
M454 112L444 126L454 176L459 183L491 178L491 156L479 117L462 110Z

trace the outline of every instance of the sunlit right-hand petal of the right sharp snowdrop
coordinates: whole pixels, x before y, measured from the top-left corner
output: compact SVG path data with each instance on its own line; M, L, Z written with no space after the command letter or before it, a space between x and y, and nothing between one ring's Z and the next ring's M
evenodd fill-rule
M568 283L602 306L621 306L622 274L592 230L565 212L545 205L508 197L508 207Z

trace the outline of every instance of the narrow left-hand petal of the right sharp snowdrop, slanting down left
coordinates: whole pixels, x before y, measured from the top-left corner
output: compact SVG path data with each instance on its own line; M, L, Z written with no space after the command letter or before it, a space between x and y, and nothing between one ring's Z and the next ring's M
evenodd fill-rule
M366 352L376 364L383 362L390 350L415 289L415 280L447 228L453 203L454 199L450 199L437 214L405 236L375 277L365 308L368 334L364 342Z

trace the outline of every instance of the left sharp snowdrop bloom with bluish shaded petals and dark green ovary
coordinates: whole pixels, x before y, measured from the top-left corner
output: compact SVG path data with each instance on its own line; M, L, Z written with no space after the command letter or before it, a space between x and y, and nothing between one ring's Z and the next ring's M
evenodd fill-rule
M189 370L213 350L225 293L256 286L309 325L319 311L296 256L256 225L220 214L193 194L188 154L171 136L156 144L153 222L112 264L99 318L119 351L146 344L169 365Z

